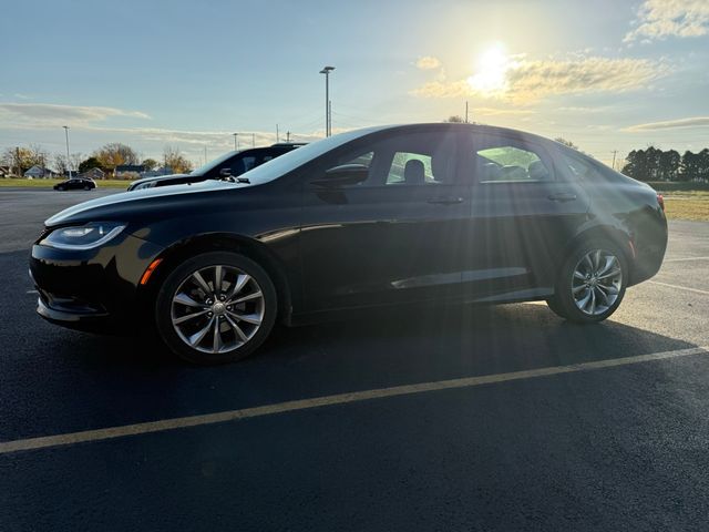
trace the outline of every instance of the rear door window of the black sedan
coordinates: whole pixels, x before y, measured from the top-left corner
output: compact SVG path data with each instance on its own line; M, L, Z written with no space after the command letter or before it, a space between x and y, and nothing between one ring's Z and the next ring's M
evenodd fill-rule
M553 181L549 163L535 146L516 140L485 139L474 152L479 183L534 183Z

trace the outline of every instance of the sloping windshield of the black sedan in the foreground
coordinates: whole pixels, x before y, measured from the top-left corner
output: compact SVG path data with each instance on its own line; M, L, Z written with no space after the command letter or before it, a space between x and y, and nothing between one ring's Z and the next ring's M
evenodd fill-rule
M292 150L285 155L273 158L246 172L243 176L248 177L248 181L253 184L268 183L319 157L330 150L379 130L381 130L381 127L366 127L363 130L348 131L322 139L321 141L307 144L298 150Z

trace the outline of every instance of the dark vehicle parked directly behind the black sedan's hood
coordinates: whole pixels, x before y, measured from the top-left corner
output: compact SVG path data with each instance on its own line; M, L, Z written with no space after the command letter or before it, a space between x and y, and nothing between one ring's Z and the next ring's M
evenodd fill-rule
M187 183L199 183L206 180L234 180L245 172L267 163L271 158L276 158L304 145L305 143L281 142L267 147L251 147L238 152L228 152L189 174L157 175L134 181L129 185L127 191L140 191L155 186L184 185Z

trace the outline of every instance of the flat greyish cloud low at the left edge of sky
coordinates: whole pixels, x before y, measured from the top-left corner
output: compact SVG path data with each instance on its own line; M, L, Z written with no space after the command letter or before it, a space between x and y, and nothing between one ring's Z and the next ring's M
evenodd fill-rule
M0 120L30 127L81 126L112 116L150 119L147 114L140 111L125 111L115 108L56 105L53 103L0 103Z

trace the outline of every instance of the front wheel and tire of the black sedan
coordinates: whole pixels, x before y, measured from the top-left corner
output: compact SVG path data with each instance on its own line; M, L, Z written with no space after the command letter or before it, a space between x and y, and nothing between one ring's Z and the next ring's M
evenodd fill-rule
M215 290L217 276L222 283ZM160 337L175 355L198 365L251 355L270 334L277 314L268 274L250 258L228 252L184 262L165 278L155 300Z

